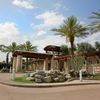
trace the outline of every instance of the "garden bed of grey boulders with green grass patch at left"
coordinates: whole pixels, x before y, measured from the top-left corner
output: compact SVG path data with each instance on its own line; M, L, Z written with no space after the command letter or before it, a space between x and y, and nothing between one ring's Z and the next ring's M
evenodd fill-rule
M16 82L22 83L57 83L57 82L65 82L70 80L70 75L56 71L36 71L33 73L27 73L25 76L16 77Z

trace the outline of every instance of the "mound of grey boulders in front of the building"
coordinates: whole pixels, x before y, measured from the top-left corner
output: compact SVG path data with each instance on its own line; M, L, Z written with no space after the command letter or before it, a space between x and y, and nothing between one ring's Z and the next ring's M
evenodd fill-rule
M58 70L43 71L39 70L28 74L26 80L34 81L36 83L52 83L52 82L65 82L70 79L70 75Z

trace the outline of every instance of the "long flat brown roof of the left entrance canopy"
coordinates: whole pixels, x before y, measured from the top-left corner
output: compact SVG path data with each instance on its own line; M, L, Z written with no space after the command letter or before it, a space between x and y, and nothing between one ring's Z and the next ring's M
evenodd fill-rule
M27 58L39 58L39 59L51 59L53 55L51 54L44 54L44 53L38 53L33 51L15 51L13 53L13 56L16 57L17 55L22 55L23 57Z

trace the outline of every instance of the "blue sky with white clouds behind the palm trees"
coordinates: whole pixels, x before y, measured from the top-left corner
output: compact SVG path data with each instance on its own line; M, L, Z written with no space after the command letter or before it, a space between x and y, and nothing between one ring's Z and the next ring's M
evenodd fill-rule
M0 0L0 44L22 44L31 41L44 52L47 45L63 45L66 39L55 35L52 28L59 27L68 16L76 16L81 24L88 25L92 12L100 10L100 0ZM75 43L99 41L100 33ZM69 43L67 42L69 45ZM0 52L0 61L6 53Z

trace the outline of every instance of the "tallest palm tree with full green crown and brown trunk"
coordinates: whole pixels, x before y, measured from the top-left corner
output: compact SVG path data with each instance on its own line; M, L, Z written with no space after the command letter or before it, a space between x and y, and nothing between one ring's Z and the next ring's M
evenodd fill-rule
M74 54L75 37L86 36L88 34L86 30L87 28L79 24L77 18L74 16L68 17L59 28L52 29L52 31L56 31L58 35L65 36L66 39L69 40L72 55Z

